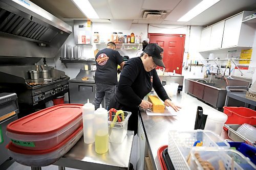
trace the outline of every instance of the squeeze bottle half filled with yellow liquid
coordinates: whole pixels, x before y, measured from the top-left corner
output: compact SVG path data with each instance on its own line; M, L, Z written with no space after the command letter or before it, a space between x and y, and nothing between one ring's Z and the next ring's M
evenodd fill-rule
M109 150L108 111L100 105L95 111L95 151L103 154Z

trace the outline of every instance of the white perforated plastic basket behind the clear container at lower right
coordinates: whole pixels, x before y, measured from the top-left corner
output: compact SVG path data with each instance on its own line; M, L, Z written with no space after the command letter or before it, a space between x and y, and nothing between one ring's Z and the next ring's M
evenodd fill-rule
M189 152L196 141L202 141L200 149L230 148L230 145L220 136L207 130L170 131L168 134L168 154L175 169L189 169L186 163Z

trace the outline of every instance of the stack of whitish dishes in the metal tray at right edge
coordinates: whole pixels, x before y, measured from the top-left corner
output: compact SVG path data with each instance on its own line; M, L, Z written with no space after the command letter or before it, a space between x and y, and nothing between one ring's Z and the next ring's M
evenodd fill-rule
M248 125L248 124L243 124L241 125L238 129L237 132L240 134L243 134L244 137L249 139L250 141L253 141L255 143L256 141L256 128Z

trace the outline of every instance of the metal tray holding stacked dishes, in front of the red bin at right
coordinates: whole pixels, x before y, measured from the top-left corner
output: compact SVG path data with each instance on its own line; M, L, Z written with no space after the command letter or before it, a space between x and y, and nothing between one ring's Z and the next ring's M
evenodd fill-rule
M237 125L237 124L225 124L224 127L226 127L228 129L228 136L230 139L232 139L233 141L237 141L237 142L248 142L251 145L253 145L254 147L256 147L256 144L253 143L254 141L251 141L249 139L247 139L246 137L244 137L242 134L237 132L237 129L240 127L241 125ZM254 127L256 127L256 125L252 125Z

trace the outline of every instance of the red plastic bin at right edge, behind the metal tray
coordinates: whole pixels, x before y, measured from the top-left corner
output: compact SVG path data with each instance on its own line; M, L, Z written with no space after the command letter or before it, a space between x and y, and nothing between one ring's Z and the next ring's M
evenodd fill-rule
M256 125L256 111L246 107L224 106L224 113L228 116L225 124Z

